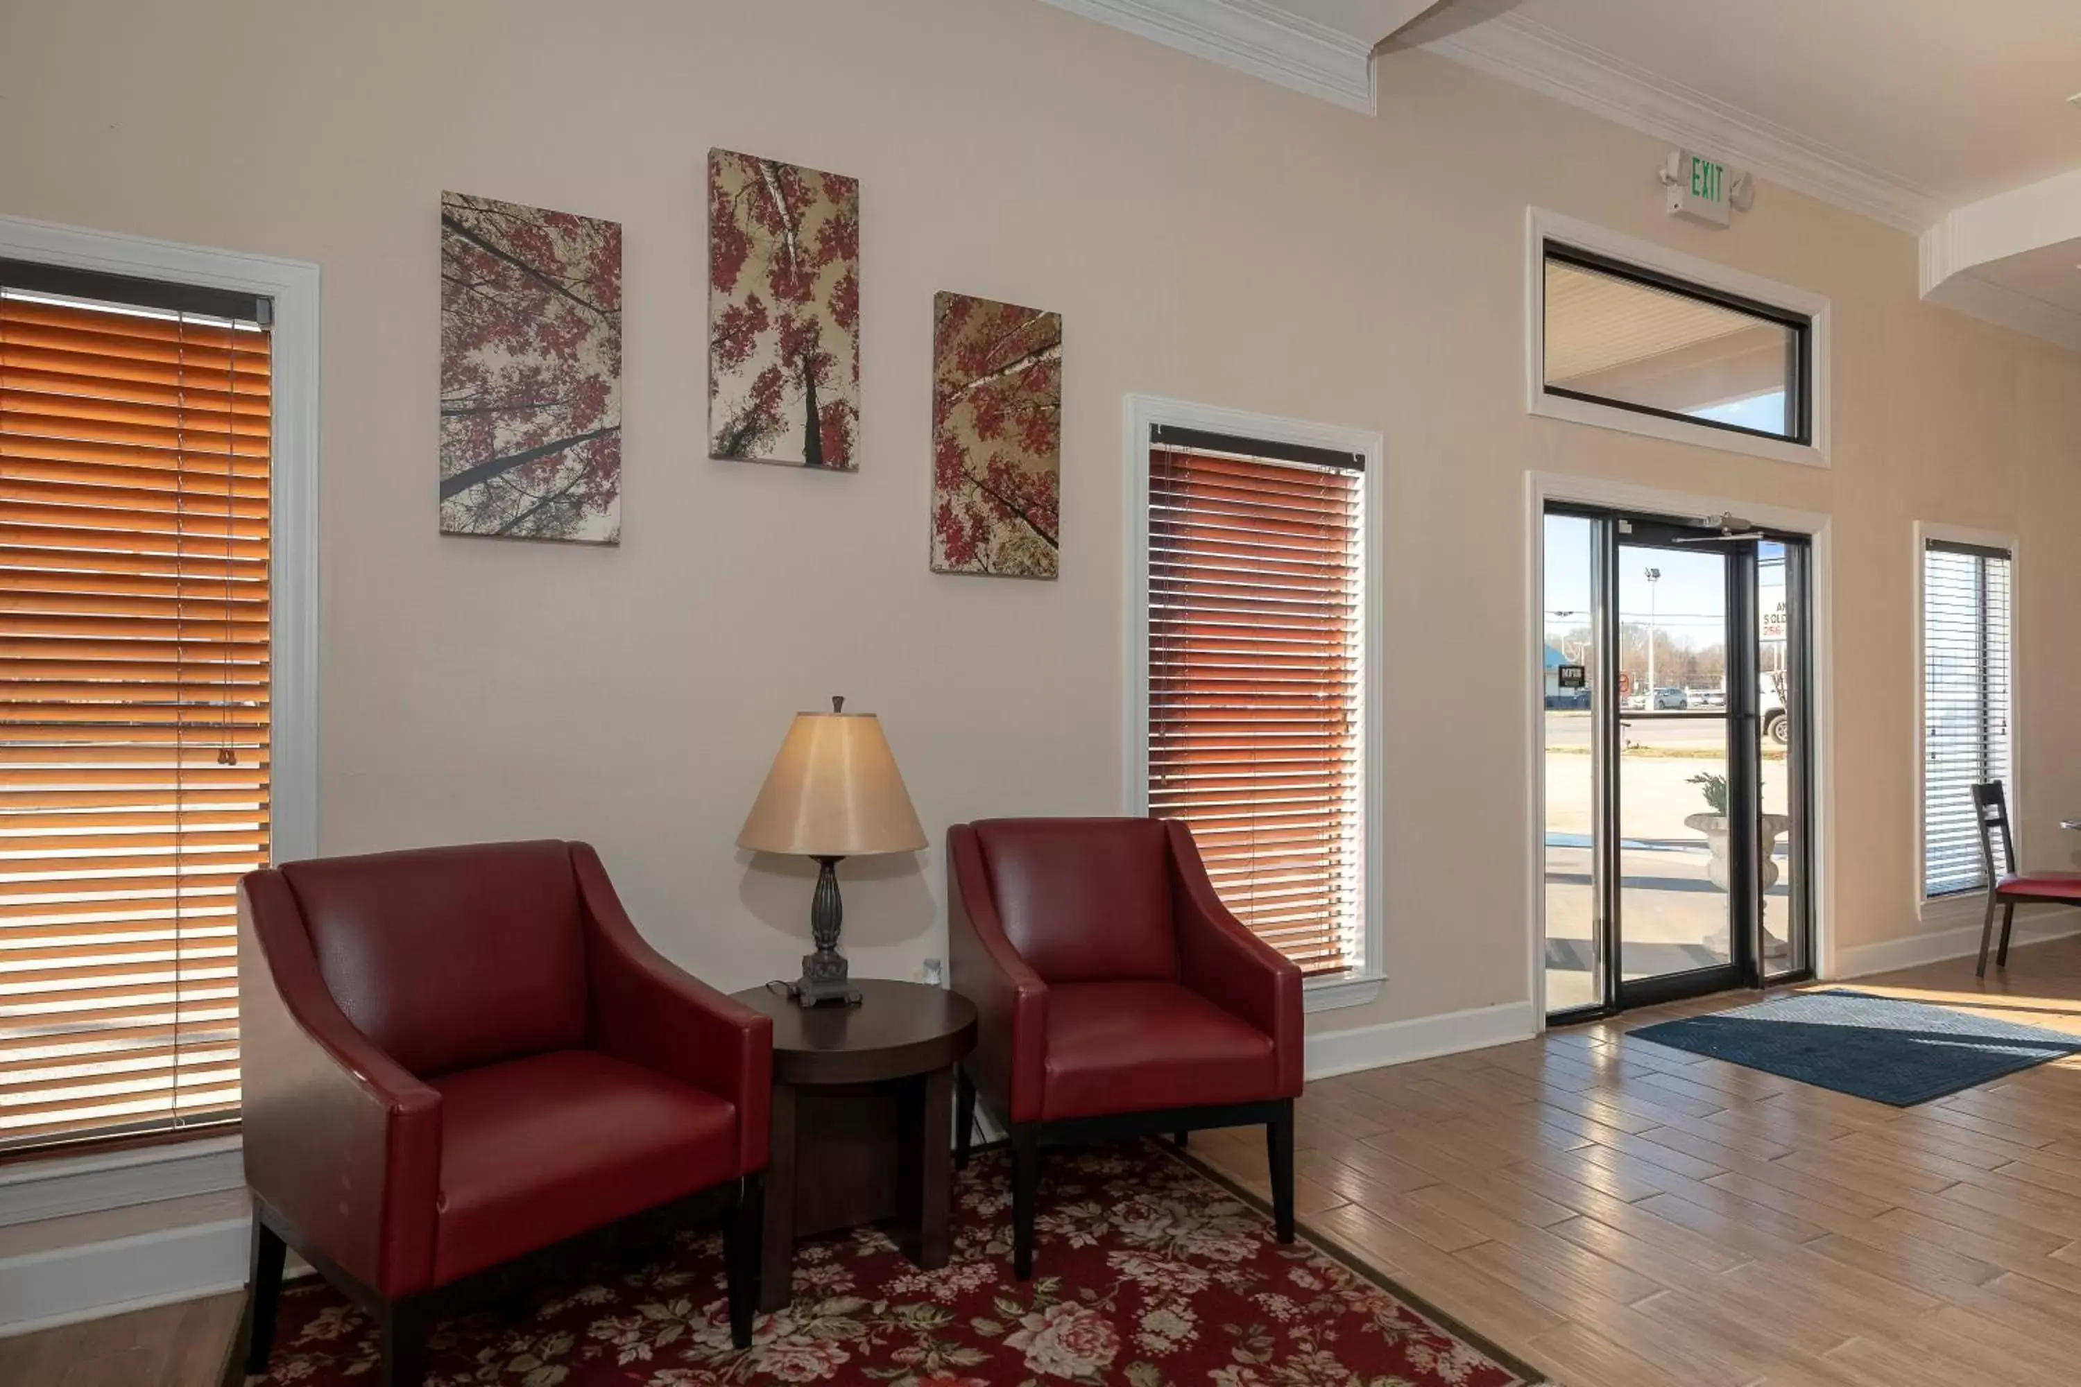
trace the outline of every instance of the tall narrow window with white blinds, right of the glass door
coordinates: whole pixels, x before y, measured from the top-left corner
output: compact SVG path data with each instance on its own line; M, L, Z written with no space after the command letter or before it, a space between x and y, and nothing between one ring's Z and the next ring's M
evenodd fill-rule
M1985 890L1971 788L2008 782L2010 553L1923 549L1923 896ZM2000 850L2000 842L1996 842Z

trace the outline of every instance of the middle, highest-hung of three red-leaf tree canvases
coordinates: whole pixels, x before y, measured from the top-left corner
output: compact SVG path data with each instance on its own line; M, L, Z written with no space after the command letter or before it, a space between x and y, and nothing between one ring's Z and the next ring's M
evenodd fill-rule
M855 470L859 181L708 152L712 457Z

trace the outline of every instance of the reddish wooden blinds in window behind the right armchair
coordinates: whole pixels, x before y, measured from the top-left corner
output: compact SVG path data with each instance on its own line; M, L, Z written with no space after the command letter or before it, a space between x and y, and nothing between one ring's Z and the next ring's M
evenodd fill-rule
M1361 963L1363 472L1149 455L1149 811L1307 973Z

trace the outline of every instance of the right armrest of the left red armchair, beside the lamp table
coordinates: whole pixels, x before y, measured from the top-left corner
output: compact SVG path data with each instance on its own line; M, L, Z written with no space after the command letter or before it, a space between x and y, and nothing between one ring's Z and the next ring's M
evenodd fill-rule
M739 1175L766 1169L774 1023L674 967L622 909L599 855L570 844L585 905L593 1044L737 1104Z

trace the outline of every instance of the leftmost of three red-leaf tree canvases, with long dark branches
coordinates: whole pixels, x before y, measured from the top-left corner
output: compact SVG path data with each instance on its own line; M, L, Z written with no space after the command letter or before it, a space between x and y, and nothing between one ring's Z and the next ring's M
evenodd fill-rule
M441 193L441 532L620 543L622 229Z

